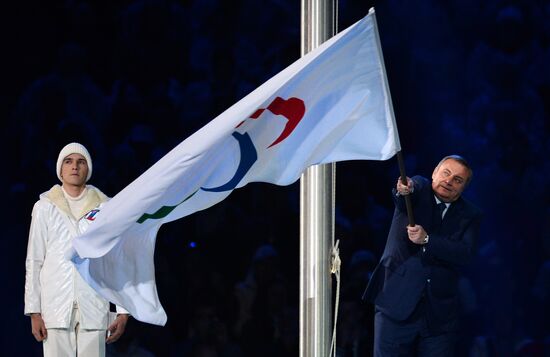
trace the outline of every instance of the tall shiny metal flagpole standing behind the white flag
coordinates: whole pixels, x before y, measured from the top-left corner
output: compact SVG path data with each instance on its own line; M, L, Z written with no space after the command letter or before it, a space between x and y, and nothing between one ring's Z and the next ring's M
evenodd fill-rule
M302 56L334 36L337 6L337 0L302 0ZM300 357L330 350L335 179L334 163L312 166L300 178Z

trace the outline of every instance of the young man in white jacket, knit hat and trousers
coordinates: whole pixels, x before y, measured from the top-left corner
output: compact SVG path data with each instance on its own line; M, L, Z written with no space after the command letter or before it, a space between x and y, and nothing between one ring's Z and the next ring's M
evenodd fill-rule
M105 356L105 343L116 341L128 321L128 312L117 306L117 317L109 325L109 301L65 258L73 238L87 229L108 200L86 184L91 175L88 150L79 143L66 145L57 159L62 185L41 194L32 211L25 314L31 317L32 334L43 341L44 356Z

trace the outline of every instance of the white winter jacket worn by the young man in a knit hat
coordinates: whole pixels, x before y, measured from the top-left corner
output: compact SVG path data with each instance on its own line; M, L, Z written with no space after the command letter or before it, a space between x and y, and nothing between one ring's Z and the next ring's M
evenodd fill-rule
M109 302L97 294L82 279L73 263L65 258L73 238L88 228L100 204L108 200L97 188L86 187L86 202L79 217L72 215L59 185L41 194L32 211L26 260L25 314L41 313L46 328L68 328L74 302L80 311L81 328L108 327ZM119 307L117 311L126 312Z

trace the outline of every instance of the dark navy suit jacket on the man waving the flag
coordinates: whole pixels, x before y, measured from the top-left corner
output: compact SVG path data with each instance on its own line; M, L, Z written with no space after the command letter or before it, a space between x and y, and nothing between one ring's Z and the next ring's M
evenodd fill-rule
M441 222L431 181L421 176L412 179L414 219L430 236L429 242L418 245L408 239L405 200L394 189L396 208L388 240L364 298L390 318L403 321L424 296L432 328L453 331L459 317L459 267L475 255L482 214L461 197Z

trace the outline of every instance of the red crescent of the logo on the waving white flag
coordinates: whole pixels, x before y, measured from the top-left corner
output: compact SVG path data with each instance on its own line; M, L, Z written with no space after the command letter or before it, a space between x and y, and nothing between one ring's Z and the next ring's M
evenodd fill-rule
M294 131L306 112L304 101L295 97L291 97L286 100L281 97L276 97L273 102L271 102L271 104L269 104L265 109L269 110L275 115L282 115L288 120L281 135L279 135L279 137L275 139L275 141L271 143L268 148L272 147L273 145L277 145L281 141L285 140L292 133L292 131ZM264 112L265 109L261 108L256 110L254 114L250 116L250 118L258 119L258 117ZM237 127L239 127L241 124L242 123L240 123Z

